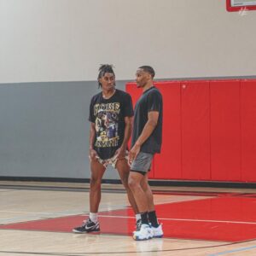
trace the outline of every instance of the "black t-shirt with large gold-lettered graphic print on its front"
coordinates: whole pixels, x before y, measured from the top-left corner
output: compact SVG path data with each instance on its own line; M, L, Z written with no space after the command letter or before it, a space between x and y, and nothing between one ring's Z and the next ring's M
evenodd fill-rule
M89 120L96 125L94 149L101 159L113 157L125 135L125 117L133 116L131 96L115 90L113 96L104 99L102 92L90 101Z

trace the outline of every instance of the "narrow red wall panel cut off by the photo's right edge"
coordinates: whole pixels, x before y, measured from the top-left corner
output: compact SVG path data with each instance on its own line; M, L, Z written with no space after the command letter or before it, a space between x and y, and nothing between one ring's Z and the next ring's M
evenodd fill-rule
M256 182L256 80L241 80L241 180Z

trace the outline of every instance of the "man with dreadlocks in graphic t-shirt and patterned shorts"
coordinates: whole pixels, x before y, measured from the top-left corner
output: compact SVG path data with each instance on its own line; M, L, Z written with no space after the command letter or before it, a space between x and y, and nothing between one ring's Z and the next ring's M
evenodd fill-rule
M131 96L115 89L115 75L111 65L102 65L98 75L102 91L90 101L90 215L75 233L100 231L98 208L101 201L101 183L108 165L119 172L128 199L134 212L137 205L128 186L130 167L128 166L127 143L131 137L133 108Z

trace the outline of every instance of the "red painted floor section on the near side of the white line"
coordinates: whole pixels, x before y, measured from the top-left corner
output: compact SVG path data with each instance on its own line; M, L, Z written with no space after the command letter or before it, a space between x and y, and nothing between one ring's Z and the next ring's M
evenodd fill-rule
M1 229L71 232L74 226L82 223L84 216L51 218L30 221L22 224L3 225ZM132 218L100 217L101 233L131 236L135 221ZM211 222L189 222L163 220L165 237L181 239L201 239L208 241L245 241L255 238L256 225L216 224Z

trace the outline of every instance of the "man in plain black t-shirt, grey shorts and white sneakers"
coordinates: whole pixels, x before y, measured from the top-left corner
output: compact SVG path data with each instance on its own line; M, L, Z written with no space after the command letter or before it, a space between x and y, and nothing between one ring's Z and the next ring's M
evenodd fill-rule
M148 185L148 171L155 153L160 153L162 143L163 102L160 91L154 87L154 69L139 67L136 73L137 87L143 95L137 101L129 162L131 172L129 186L141 213L140 224L133 232L137 241L162 237L162 225L154 210L152 191Z

